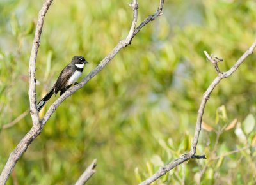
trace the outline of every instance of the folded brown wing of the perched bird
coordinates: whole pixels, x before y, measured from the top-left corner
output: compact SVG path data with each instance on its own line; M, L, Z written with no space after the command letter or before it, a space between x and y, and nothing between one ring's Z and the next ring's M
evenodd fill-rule
M55 84L55 95L65 87L65 85L68 82L68 79L72 75L72 66L66 66L60 73L60 76L57 79L57 82Z

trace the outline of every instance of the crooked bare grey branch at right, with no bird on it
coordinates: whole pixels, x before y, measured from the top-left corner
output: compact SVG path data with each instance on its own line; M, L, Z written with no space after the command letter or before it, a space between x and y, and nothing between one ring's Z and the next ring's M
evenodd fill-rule
M190 149L189 153L188 154L183 154L182 156L175 159L174 161L172 161L168 165L164 166L163 168L158 170L156 172L156 174L153 174L151 177L149 177L145 181L141 182L140 185L146 185L146 184L150 184L150 183L156 181L157 179L159 179L159 177L163 176L164 174L166 174L167 172L172 170L175 166L178 166L181 163L184 163L185 161L188 161L189 159L193 158L193 156L195 157L196 146L198 144L198 138L199 138L200 131L201 131L201 126L202 126L202 117L204 115L204 108L205 108L205 105L207 103L207 100L209 100L209 98L210 98L210 94L212 93L213 89L220 83L220 81L223 78L230 77L230 75L232 75L234 73L234 71L237 70L237 68L241 65L241 63L243 63L244 59L246 59L246 57L250 56L250 54L253 53L253 50L255 49L255 47L256 47L256 41L254 41L254 43L251 45L251 47L248 48L248 50L246 50L246 52L244 52L243 56L241 56L237 60L237 62L234 64L234 66L232 66L232 68L230 68L230 70L228 70L227 72L224 72L224 73L218 73L218 76L213 80L211 85L209 85L209 87L205 91L205 93L202 97L201 103L200 103L199 110L198 110L195 135L193 137L193 142L191 144L191 149Z

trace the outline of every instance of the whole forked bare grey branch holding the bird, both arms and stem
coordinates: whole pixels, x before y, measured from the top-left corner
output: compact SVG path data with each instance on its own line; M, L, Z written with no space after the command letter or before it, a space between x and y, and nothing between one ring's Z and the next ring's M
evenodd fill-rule
M38 47L40 45L40 35L42 33L42 26L44 23L44 17L47 13L47 10L49 9L49 6L51 6L52 0L45 1L42 9L40 10L39 16L38 16L38 23L36 25L36 33L35 33L35 40L33 43L32 51L31 51L31 57L29 61L29 102L30 102L30 112L31 117L33 121L33 128L26 134L24 138L19 142L17 147L14 149L14 151L10 154L8 161L6 165L4 166L4 169L0 175L0 185L6 184L6 181L8 177L10 176L10 173L12 172L15 164L19 160L20 156L26 151L28 146L35 140L35 138L42 132L42 129L44 128L45 123L48 121L48 119L51 117L51 115L54 113L56 108L67 99L69 96L71 96L74 92L76 92L78 89L83 87L91 78L93 78L95 75L97 75L105 66L108 64L113 57L116 56L116 54L124 47L127 47L131 43L132 38L140 31L140 29L145 26L148 22L154 20L157 16L161 14L161 11L163 9L163 3L164 0L160 1L160 6L157 9L156 13L154 15L148 16L143 22L141 22L140 26L136 27L136 22L138 18L138 2L137 0L132 1L132 9L133 9L133 20L131 24L131 29L129 31L129 34L127 38L124 40L119 41L119 43L116 45L115 48L108 54L108 56L104 57L102 61L98 64L94 70L92 70L86 77L83 78L83 80L74 85L74 87L70 88L68 91L66 91L58 100L56 100L47 113L44 115L41 121L39 121L38 118L38 111L36 110L36 91L35 91L35 63L36 63L36 56L38 52ZM136 29L135 29L136 27Z

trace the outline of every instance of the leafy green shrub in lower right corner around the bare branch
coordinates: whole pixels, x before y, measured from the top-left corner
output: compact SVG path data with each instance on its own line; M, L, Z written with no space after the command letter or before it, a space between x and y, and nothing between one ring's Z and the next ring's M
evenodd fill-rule
M225 106L221 105L218 110L225 110ZM216 117L221 117L216 115ZM243 126L248 122L248 119L254 120L254 116L249 114L243 121ZM251 121L252 121L251 120ZM204 122L203 124L203 139L205 141L198 144L198 153L205 154L207 159L191 159L190 161L177 166L169 174L157 180L157 184L222 184L230 182L232 184L253 184L255 178L255 142L256 131L252 131L252 135L246 133L246 127L241 129L241 122L237 119L228 124L227 117L221 117L218 128L213 128ZM253 125L254 126L254 125ZM211 128L211 129L209 129ZM205 131L207 131L205 133ZM236 135L236 137L230 137ZM154 174L154 171L159 170L164 166L163 161L169 163L184 152L186 149L186 140L191 140L192 135L183 136L183 142L180 145L173 144L172 138L168 140L159 140L159 145L162 148L161 156L152 156L151 163L146 163L145 172L139 173L137 168L136 176L140 175L140 179L145 179L149 175ZM228 143L228 139L233 142ZM190 143L191 141L189 141ZM184 147L184 150L179 150ZM244 165L246 161L246 165ZM148 168L150 166L150 169ZM248 170L248 167L252 170ZM244 174L244 172L246 172ZM143 177L141 177L143 175Z

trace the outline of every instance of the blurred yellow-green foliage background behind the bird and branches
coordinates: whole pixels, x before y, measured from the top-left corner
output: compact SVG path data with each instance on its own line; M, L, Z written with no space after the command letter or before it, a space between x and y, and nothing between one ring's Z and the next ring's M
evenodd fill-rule
M0 1L0 170L31 128L28 64L44 1ZM90 61L83 77L127 36L130 1L53 1L36 60L37 100L72 56ZM140 23L159 1L139 1ZM74 184L97 158L88 184L138 184L190 149L202 94L252 45L254 0L170 0L96 77L65 100L15 166L7 184ZM155 184L255 184L256 56L214 89L197 154ZM80 78L81 80L81 78ZM57 95L56 98L58 98ZM55 97L47 103L44 115Z

